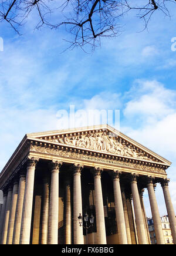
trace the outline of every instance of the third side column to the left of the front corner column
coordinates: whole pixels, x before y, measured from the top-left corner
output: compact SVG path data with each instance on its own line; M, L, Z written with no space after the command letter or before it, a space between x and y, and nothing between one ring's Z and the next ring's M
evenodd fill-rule
M6 238L8 233L9 215L11 211L11 200L12 200L12 187L8 188L8 196L6 200L5 218L4 218L4 229L2 233L2 244L6 244Z

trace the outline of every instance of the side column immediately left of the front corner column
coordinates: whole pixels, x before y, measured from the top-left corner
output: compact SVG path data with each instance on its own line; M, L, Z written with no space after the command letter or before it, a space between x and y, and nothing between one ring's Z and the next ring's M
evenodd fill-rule
M26 176L20 174L12 244L19 244Z

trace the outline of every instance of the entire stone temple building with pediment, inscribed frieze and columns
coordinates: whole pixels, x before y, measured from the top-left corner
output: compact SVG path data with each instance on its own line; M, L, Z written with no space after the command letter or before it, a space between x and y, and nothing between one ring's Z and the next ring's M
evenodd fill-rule
M0 174L1 244L150 244L144 188L155 235L164 244L156 183L176 244L170 165L107 125L26 134ZM84 213L95 217L88 240L78 220Z

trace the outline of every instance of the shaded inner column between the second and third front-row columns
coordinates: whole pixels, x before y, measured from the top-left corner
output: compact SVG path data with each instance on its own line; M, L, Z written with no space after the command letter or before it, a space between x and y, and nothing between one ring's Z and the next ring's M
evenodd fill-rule
M72 244L72 211L69 178L65 181L65 244Z

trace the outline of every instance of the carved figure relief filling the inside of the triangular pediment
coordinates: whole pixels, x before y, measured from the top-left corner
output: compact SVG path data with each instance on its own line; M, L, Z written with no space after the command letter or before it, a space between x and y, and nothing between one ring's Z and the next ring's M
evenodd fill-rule
M120 156L134 157L138 159L154 160L144 151L138 149L131 143L109 132L94 132L86 134L68 134L60 135L57 139L51 139L52 142L59 142L70 146L82 147L98 151L106 151Z

